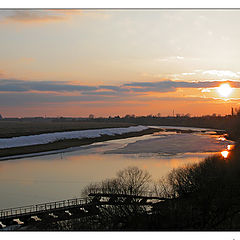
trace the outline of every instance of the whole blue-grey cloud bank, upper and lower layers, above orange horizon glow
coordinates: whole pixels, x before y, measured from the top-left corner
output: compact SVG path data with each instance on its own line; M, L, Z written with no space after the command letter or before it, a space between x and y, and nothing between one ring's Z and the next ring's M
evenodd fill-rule
M218 87L222 81L187 82L165 80L159 82L132 82L124 85L88 86L55 81L24 81L17 79L0 79L0 106L37 106L50 103L141 103L162 102L210 102L213 98L201 96L153 96L149 92L174 92L178 88L204 89ZM229 81L232 87L240 88L240 81ZM221 98L216 99L222 101ZM231 99L235 101L234 99Z

